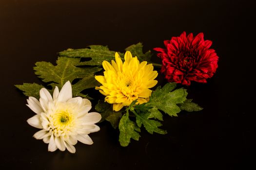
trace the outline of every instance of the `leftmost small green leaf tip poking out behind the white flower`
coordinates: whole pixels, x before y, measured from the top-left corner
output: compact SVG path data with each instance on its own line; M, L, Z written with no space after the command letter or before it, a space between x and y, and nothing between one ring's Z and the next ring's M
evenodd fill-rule
M36 84L36 83L23 83L23 85L15 85L17 88L19 88L21 91L23 91L23 94L25 96L33 96L37 99L39 99L39 90L43 88L44 86Z

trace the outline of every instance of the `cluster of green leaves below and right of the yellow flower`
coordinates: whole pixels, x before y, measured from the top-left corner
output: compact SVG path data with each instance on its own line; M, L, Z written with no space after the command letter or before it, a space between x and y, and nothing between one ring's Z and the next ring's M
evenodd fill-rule
M137 101L133 101L127 108L125 117L123 116L121 120L125 120L126 124L129 123L128 129L125 129L126 124L121 121L119 123L120 136L119 141L121 146L127 146L130 143L131 138L138 139L138 132L143 125L146 131L150 134L166 134L165 130L159 127L162 124L158 120L163 120L163 111L170 116L177 116L181 110L187 111L199 111L202 108L196 103L191 102L192 100L187 100L187 92L183 88L176 89L175 83L168 83L162 88L159 86L151 94L149 102L136 105ZM180 108L179 108L180 107ZM129 112L133 113L136 117L136 124L128 118ZM158 119L158 120L156 120ZM121 129L120 129L121 128Z

